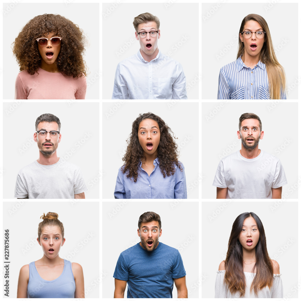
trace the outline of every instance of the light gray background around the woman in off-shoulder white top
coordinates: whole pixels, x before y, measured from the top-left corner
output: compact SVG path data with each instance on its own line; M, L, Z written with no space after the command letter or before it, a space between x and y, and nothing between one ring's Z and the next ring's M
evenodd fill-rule
M291 290L298 285L298 203L282 202L276 208L274 202L264 201L202 202L202 298L214 298L216 271L226 258L232 224L244 212L254 212L262 221L268 254L280 266L284 298L289 293L298 298Z

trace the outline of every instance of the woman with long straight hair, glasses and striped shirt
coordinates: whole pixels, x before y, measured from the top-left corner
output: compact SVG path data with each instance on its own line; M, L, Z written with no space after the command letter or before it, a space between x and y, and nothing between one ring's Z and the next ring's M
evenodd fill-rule
M249 14L239 29L236 61L219 73L217 99L286 99L286 77L262 16Z

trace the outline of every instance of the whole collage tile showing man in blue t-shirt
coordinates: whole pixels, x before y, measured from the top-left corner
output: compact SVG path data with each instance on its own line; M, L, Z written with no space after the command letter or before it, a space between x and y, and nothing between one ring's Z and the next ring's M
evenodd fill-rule
M199 297L198 202L102 206L103 298Z

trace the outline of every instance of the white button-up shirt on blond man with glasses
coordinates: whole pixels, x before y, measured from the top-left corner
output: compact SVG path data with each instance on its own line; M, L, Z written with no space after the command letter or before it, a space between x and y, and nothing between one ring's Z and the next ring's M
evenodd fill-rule
M147 62L139 49L118 64L112 99L187 99L183 68L160 50Z

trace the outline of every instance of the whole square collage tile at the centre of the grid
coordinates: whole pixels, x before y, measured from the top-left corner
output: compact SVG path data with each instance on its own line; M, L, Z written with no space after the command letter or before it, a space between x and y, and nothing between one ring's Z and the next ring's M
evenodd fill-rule
M158 104L103 103L102 197L104 199L199 197L199 183L196 182L199 178L199 105L184 102ZM147 121L151 124L148 125ZM132 132L135 135L130 135ZM112 133L114 133L113 139ZM148 142L151 145L148 146ZM154 160L156 151L159 155ZM167 168L172 170L170 165L175 162L177 153L179 157L175 173L163 174L160 164L165 170ZM150 165L154 160L156 166L147 169L146 163L140 160L141 155L147 156ZM108 158L115 160L108 160ZM127 169L124 171L121 169L123 164L127 164ZM132 172L130 177L127 176L129 170Z

